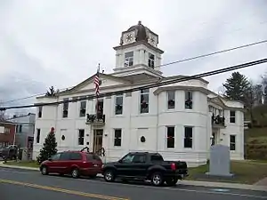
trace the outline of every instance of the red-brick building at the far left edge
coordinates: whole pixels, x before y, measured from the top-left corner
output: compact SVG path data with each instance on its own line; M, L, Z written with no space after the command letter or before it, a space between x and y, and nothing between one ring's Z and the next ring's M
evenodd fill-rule
M14 142L15 124L0 121L0 148L12 145Z

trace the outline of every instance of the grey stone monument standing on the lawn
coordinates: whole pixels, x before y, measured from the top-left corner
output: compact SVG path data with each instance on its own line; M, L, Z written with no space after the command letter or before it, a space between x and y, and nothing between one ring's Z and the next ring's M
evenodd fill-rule
M232 177L230 172L230 148L224 145L214 145L210 148L208 176Z

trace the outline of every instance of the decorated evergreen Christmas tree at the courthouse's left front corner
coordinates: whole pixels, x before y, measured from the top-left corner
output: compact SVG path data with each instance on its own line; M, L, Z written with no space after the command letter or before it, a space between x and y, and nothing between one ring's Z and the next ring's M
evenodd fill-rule
M54 129L52 128L51 132L49 132L45 138L43 148L40 150L40 154L37 157L38 164L41 164L44 160L55 155L58 151L57 145Z

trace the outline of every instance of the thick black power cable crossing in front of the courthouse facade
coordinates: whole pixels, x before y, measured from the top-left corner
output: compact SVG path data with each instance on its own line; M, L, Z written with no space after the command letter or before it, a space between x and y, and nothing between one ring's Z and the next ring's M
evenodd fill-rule
M163 85L167 85L167 84L176 84L179 82L189 81L192 79L197 79L197 78L201 78L201 77L205 77L205 76L214 76L214 75L222 74L222 73L229 72L232 70L236 70L239 68L248 68L248 67L263 64L266 62L267 62L267 59L255 60L255 61L239 64L236 66L232 66L229 68L221 68L221 69L201 73L201 74L194 75L194 76L175 78L174 80L169 80L169 81L162 82L162 83L147 84L147 85L144 85L141 87L135 87L132 89L127 89L127 90L118 91L118 92L105 92L105 93L101 93L99 95L99 98L106 97L106 96L112 96L112 95L119 95L119 94L123 94L123 93L127 93L127 92L136 92L136 91L150 89L153 87L163 86ZM31 105L26 105L26 106L6 107L6 108L0 108L0 110L15 109L15 108L33 108L33 107L39 107L39 106L52 106L52 105L59 105L59 104L65 103L65 102L77 102L77 101L81 101L81 100L93 100L93 99L96 99L95 95L88 95L87 97L79 98L77 100L61 100L61 101L56 101L56 102L52 102L52 103L39 103L39 104L31 104Z

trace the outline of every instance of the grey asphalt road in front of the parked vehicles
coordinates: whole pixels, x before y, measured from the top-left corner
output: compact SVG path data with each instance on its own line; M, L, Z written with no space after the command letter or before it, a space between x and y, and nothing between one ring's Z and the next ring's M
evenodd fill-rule
M253 200L267 199L266 192L177 185L155 188L149 184L107 183L101 179L43 176L39 172L0 168L1 200Z

